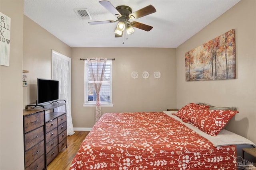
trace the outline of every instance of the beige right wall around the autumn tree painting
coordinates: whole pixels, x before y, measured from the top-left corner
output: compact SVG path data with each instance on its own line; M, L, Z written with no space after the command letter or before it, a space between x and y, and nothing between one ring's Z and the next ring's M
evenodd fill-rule
M185 53L235 29L234 80L185 81ZM189 102L236 106L240 113L227 129L256 143L256 1L242 0L177 48L177 107Z

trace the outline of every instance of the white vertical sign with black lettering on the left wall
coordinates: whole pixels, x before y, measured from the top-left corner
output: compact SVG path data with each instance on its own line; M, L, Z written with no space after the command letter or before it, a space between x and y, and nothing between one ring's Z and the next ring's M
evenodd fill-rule
M0 12L0 65L9 66L11 18Z

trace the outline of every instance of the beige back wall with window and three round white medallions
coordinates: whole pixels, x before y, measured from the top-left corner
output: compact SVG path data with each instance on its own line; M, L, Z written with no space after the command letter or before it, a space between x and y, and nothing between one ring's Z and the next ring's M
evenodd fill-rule
M92 127L95 107L83 107L84 61L80 58L115 58L112 62L113 107L106 112L163 111L176 107L176 49L72 48L72 119L74 127ZM139 77L133 79L132 71ZM142 72L148 71L148 79ZM161 73L154 78L155 71Z

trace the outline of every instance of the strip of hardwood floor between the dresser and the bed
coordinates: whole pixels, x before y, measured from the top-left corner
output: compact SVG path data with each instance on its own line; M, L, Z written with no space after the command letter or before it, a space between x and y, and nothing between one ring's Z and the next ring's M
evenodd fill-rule
M82 141L90 131L75 131L68 136L68 147L60 152L47 166L47 170L69 170L70 164L76 155Z

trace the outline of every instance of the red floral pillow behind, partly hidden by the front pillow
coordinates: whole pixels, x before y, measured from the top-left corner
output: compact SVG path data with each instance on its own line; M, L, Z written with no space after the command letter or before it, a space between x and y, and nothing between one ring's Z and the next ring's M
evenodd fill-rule
M207 109L210 106L207 105L198 105L198 104L194 104L194 103L190 103L187 104L186 106L182 107L179 111L177 111L177 113L173 113L173 115L176 115L178 117L180 117L180 119L188 119L189 115L191 113L194 112L194 110L196 109ZM189 123L189 120L185 121L186 123Z

